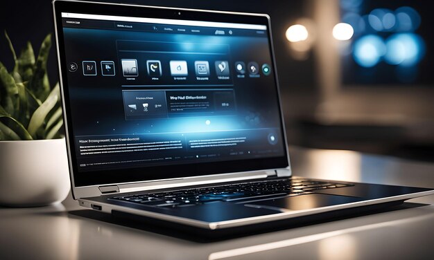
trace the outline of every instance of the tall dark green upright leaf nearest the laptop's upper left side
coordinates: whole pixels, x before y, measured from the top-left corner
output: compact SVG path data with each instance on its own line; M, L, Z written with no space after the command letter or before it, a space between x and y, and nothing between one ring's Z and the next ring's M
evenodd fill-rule
M49 59L51 48L51 34L42 41L40 52L35 63L33 77L28 84L28 89L35 93L39 100L45 100L50 93L50 82L46 73L46 62Z

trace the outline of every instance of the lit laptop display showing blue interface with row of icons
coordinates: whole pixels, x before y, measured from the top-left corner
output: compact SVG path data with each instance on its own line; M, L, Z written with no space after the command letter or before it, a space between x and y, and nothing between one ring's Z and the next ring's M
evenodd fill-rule
M60 15L69 146L83 179L76 185L101 183L110 171L162 179L190 176L197 165L216 166L193 175L231 171L218 163L286 158L268 24L181 12ZM95 174L100 181L86 181ZM125 179L102 183L114 180Z

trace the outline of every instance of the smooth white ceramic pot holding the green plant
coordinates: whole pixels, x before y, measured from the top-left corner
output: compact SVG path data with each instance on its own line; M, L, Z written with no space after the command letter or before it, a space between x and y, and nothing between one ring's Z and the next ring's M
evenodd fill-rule
M0 141L0 205L59 203L70 189L64 138Z

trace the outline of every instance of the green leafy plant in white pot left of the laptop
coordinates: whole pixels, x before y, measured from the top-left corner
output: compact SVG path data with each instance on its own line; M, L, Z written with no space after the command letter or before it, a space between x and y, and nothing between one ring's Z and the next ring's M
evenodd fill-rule
M37 57L27 42L19 57L5 32L15 66L0 62L0 205L37 206L69 192L59 84L51 86L46 63L51 35Z

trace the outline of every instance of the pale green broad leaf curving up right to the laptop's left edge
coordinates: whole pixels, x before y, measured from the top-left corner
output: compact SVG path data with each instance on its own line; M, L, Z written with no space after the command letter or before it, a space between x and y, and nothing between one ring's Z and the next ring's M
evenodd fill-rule
M28 133L37 138L37 131L44 125L46 115L53 109L55 104L59 100L59 84L55 85L53 91L51 91L49 97L46 98L44 103L41 104L39 108L33 113L30 122L28 123Z

